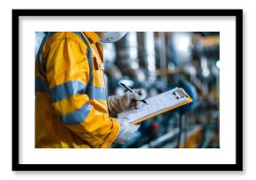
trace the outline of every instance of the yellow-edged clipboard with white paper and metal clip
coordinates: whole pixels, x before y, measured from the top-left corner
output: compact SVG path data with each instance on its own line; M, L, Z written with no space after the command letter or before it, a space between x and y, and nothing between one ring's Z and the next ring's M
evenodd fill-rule
M169 112L184 104L192 103L192 98L183 88L178 87L145 100L148 104L142 104L138 109L121 112L118 114L118 119L127 118L129 123L138 124L163 112Z

